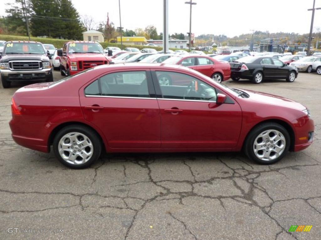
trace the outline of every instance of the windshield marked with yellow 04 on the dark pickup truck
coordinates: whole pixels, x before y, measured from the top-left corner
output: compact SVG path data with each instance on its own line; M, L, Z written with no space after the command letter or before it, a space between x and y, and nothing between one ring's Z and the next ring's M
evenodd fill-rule
M41 43L6 43L4 54L46 54Z

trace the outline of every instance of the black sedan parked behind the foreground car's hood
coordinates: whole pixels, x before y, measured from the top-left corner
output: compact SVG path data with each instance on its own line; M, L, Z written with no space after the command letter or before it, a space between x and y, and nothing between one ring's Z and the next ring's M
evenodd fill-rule
M231 78L252 80L255 84L262 83L263 79L286 79L293 82L298 76L298 69L291 67L273 57L244 57L239 61L230 62Z

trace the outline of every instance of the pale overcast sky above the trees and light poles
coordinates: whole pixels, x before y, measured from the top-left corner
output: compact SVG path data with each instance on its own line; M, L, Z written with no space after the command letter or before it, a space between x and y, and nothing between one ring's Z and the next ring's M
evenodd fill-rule
M47 0L50 1L50 0ZM169 0L169 33L189 31L189 5L187 0ZM5 3L0 0L0 15ZM98 24L109 20L119 26L118 0L72 0L80 15L91 15ZM193 0L192 32L200 34L225 34L228 37L251 33L251 29L272 32L310 31L313 0ZM120 0L121 21L124 29L145 28L154 25L162 32L163 0ZM321 7L321 0L316 0ZM321 10L316 10L314 29L321 28Z

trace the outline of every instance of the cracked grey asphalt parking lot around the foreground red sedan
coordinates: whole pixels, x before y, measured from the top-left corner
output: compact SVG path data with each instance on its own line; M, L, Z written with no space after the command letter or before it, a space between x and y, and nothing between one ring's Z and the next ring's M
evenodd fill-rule
M320 239L321 76L224 84L307 106L314 144L270 166L242 153L112 154L72 170L13 142L11 96L23 85L0 86L0 239Z

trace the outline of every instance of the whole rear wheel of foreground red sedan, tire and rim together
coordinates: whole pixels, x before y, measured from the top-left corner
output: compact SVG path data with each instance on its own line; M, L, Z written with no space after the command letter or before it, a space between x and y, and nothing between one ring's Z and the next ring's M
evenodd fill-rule
M53 150L62 164L75 169L86 168L100 156L100 137L88 127L70 125L56 134Z

